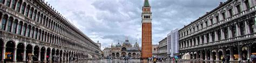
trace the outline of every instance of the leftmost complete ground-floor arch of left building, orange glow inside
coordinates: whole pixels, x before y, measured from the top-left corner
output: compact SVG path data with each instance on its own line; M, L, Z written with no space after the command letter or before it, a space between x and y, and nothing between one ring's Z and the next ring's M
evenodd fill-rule
M5 48L5 59L6 61L13 61L14 60L14 48L15 48L15 43L12 41L8 41L6 43L6 48Z

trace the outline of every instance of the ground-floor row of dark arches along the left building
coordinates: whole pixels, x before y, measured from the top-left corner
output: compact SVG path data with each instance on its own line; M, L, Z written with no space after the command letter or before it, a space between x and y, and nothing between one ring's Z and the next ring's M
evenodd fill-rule
M85 59L88 56L82 52L71 50L47 48L32 44L4 42L0 38L1 61L69 61L73 59ZM32 59L32 57L34 57Z

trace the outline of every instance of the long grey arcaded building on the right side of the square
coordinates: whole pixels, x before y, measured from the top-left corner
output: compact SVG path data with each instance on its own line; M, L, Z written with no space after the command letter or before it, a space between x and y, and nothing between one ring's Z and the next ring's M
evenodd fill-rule
M179 30L180 57L251 59L256 54L255 0L228 0Z

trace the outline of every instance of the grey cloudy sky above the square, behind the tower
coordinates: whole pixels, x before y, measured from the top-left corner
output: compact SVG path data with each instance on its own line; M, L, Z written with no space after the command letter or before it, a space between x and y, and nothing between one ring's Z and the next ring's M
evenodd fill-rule
M136 41L141 45L144 0L45 0L94 42L104 47ZM198 19L226 0L149 0L152 8L152 43L158 44L173 29Z

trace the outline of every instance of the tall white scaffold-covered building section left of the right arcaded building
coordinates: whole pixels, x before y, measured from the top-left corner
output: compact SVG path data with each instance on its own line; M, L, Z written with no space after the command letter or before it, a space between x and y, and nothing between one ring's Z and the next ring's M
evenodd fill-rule
M170 57L178 56L179 54L178 30L179 29L174 29L167 35L167 54L170 55Z

